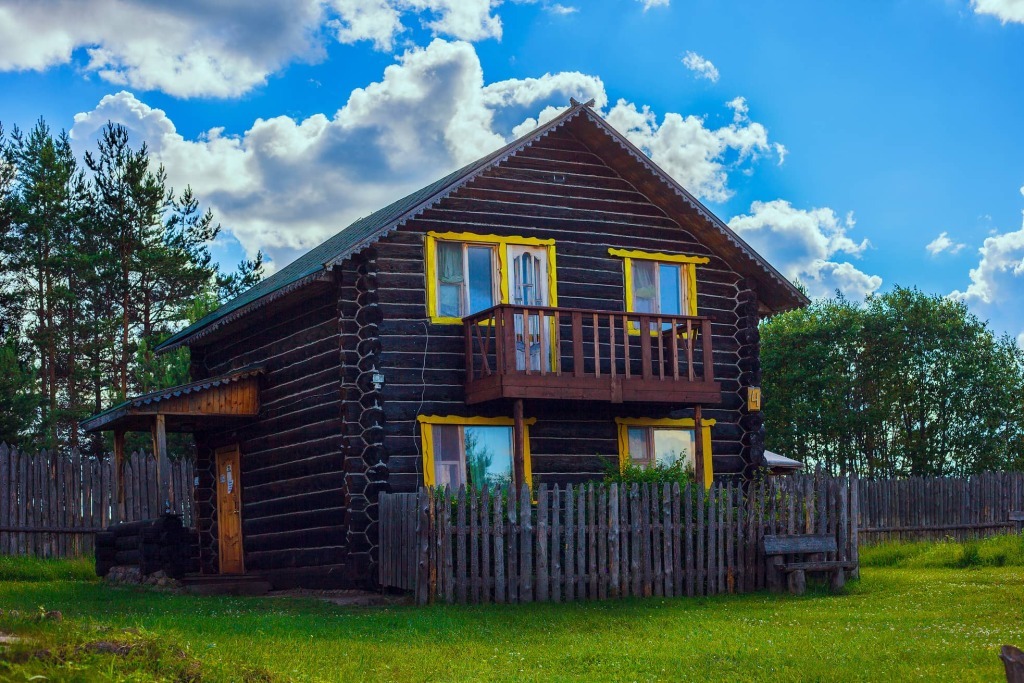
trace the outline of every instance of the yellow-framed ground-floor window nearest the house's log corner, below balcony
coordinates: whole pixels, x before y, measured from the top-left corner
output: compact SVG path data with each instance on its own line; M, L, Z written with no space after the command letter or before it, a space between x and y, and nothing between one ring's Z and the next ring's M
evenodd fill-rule
M511 418L420 416L419 422L425 485L452 488L518 485ZM529 425L535 422L530 419L524 423L523 465L528 485L532 485Z

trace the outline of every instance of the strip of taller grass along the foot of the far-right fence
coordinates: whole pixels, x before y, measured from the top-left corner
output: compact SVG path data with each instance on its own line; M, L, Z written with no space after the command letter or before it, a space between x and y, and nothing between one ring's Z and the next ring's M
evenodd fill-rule
M906 569L968 569L1024 567L1024 535L995 536L977 541L889 542L860 549L860 564Z

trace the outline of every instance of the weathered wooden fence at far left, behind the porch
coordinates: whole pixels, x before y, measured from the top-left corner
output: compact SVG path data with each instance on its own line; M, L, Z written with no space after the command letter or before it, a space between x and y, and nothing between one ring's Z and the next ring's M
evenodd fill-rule
M171 463L176 510L193 525L193 464ZM119 511L113 459L19 453L0 443L0 555L91 555L93 535L106 525L158 516L157 462L152 455L125 458L125 514Z

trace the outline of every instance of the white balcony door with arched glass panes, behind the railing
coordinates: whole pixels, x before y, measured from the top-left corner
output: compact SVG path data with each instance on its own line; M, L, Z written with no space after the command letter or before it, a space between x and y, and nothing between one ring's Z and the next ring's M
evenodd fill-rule
M508 258L509 303L517 306L550 306L548 250L544 247L510 245ZM552 325L554 318L551 318ZM516 370L552 370L555 350L551 348L552 325L541 325L537 311L515 314ZM542 358L542 349L547 357Z

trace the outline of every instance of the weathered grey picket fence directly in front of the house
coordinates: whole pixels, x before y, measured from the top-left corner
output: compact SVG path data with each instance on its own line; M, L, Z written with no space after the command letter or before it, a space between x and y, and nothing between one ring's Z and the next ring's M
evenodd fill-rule
M829 533L857 560L856 478L541 485L380 498L379 579L428 602L599 600L766 587L766 533Z

